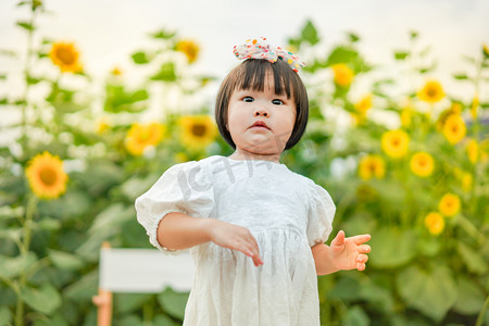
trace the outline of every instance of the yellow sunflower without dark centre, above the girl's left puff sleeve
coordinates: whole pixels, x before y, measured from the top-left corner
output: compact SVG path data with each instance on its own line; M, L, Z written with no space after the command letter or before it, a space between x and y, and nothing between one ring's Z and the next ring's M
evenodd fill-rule
M126 148L133 155L141 155L149 146L159 145L164 133L165 126L159 123L134 124L126 136Z

